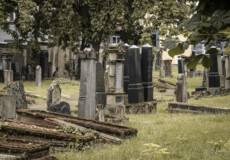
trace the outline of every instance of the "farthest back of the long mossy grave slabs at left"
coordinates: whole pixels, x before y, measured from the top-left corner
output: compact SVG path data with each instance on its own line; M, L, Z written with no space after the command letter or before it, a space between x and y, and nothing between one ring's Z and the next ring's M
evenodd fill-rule
M39 110L17 110L18 118L24 123L35 123L35 124L47 124L49 125L61 125L62 123L68 123L69 125L77 125L80 127L93 129L98 132L106 134L106 137L116 136L119 138L128 138L137 135L138 130L131 127L125 127L120 125L113 125L109 123L74 117L70 115L46 112ZM52 121L51 121L52 120Z

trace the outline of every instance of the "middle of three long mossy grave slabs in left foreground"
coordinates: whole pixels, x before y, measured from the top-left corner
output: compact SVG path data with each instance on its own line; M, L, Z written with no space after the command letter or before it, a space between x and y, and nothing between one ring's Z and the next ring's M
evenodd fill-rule
M84 146L94 142L98 137L93 132L90 134L84 132L68 133L66 130L55 127L24 124L16 121L4 121L1 124L0 135L7 138L26 138L31 141L49 142L52 147L75 147L79 144Z

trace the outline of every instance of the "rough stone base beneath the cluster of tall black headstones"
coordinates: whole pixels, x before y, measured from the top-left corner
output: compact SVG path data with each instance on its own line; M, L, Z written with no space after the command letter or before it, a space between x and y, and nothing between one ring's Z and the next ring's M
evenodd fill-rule
M138 113L152 113L157 111L157 101L142 102L136 104L127 104L126 113L127 114L138 114Z

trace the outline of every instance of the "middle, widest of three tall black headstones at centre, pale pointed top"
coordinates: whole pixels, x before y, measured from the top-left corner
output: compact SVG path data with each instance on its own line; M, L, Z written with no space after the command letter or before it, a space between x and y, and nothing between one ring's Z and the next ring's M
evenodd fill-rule
M144 102L144 88L141 76L140 50L133 45L129 48L129 103Z

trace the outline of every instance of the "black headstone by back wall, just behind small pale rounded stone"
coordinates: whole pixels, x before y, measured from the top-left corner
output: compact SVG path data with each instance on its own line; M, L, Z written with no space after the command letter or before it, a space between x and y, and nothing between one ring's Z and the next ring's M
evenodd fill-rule
M40 66L42 67L42 78L49 77L49 62L48 62L48 52L43 50L40 53Z

